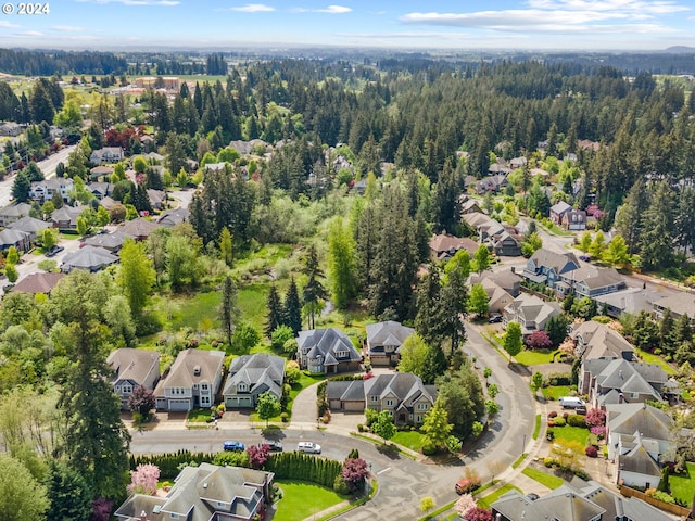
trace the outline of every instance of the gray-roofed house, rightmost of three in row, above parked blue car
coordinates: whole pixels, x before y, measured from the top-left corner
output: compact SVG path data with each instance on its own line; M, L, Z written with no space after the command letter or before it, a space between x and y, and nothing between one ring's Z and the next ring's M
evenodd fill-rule
M231 360L222 392L225 407L255 408L263 393L271 393L280 399L283 380L285 358L267 353L239 356Z

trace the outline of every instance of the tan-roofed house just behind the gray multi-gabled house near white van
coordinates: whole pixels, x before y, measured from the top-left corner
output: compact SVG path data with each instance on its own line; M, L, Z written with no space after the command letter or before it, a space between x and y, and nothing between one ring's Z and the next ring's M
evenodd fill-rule
M577 342L577 355L583 360L612 357L632 361L634 358L632 344L605 323L587 320L572 328L569 335Z

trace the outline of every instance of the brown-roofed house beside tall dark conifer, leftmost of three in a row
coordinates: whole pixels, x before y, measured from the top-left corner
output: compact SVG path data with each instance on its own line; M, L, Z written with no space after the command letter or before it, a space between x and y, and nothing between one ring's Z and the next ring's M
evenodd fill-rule
M113 369L111 385L121 397L121 408L128 408L128 398L138 385L154 391L160 381L160 354L156 351L121 348L112 352L106 363Z

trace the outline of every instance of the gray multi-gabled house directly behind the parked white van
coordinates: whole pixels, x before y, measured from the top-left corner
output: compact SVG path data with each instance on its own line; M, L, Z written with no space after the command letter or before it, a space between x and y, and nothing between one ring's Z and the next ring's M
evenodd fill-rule
M582 360L578 386L594 407L606 408L610 404L662 402L667 381L666 372L656 364L607 356Z

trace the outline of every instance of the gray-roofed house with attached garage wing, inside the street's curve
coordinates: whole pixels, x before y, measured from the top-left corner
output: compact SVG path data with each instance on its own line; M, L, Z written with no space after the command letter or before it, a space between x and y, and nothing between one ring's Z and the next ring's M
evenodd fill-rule
M421 424L437 401L437 387L425 385L415 374L399 372L368 380L329 381L326 395L331 410L388 410L396 425Z

